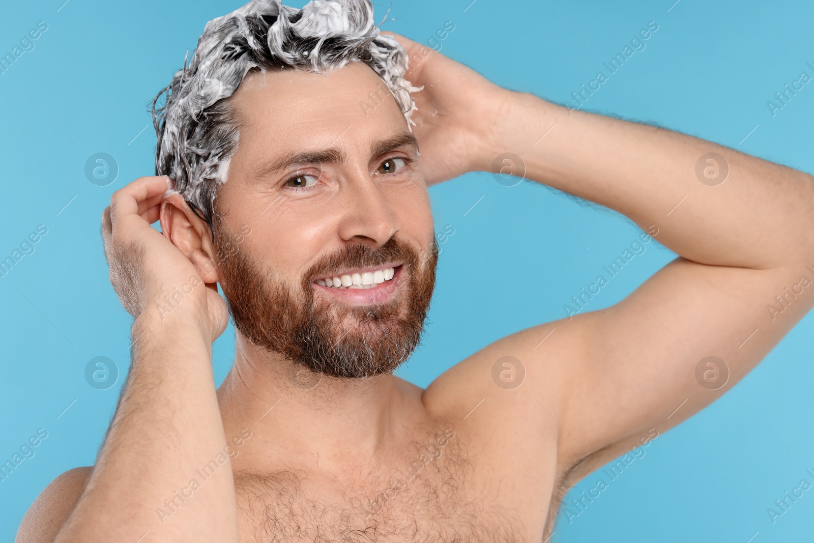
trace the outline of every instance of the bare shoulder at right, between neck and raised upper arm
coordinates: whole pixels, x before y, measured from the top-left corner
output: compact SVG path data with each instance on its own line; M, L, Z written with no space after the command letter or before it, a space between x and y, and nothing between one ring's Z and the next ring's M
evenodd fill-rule
M433 381L422 401L427 410L456 420L467 433L503 435L505 449L540 453L560 440L558 424L573 369L585 356L584 315L531 326L498 339ZM572 439L565 435L565 439ZM565 459L563 459L565 460Z

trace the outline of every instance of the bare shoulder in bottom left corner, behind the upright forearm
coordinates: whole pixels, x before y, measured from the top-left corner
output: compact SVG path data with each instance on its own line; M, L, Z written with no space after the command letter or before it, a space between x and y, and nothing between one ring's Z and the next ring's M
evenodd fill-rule
M28 508L15 543L51 543L57 540L59 529L77 505L92 470L90 466L75 467L51 481Z

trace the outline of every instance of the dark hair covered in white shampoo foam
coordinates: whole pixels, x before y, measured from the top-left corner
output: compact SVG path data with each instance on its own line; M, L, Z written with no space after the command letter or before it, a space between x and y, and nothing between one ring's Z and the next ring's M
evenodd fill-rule
M152 101L155 174L172 177L173 192L212 229L217 185L226 181L238 148L238 118L228 99L247 74L324 73L350 62L379 74L412 131L416 107L410 93L421 88L405 80L407 52L379 33L370 0L311 0L301 10L280 0L252 0L210 20L190 62L184 59L183 69ZM156 107L162 96L164 106Z

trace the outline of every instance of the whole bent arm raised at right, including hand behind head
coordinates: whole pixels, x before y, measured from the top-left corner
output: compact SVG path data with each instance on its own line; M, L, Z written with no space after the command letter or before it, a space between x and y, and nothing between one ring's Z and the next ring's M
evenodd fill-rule
M414 131L429 183L505 167L622 212L681 255L619 304L510 335L450 370L478 375L487 394L495 360L523 361L511 413L523 405L519 424L554 425L563 488L714 401L814 305L811 176L504 90L396 39L425 89ZM516 157L496 163L504 153Z

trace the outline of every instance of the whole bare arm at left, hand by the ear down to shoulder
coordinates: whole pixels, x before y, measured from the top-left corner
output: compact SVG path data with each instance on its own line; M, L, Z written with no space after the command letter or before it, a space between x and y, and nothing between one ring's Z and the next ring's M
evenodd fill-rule
M212 462L226 449L211 366L225 302L170 241L189 217L160 207L166 189L142 177L103 215L112 282L136 317L127 382L93 470L46 488L19 543L238 541L230 461ZM173 288L185 297L166 311L157 300Z

